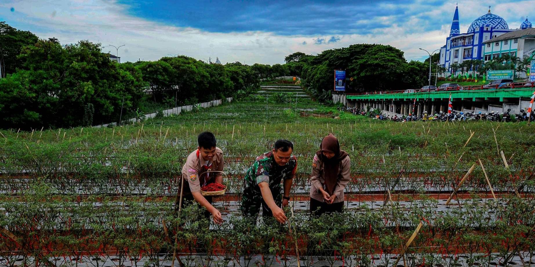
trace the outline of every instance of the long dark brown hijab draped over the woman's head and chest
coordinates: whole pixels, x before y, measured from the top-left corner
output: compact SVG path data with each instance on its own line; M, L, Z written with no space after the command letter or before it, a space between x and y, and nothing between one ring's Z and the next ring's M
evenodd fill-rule
M323 151L332 152L334 156L331 159L327 159L323 155ZM325 187L327 193L330 195L334 192L334 187L338 183L338 173L340 169L340 161L346 158L347 152L340 150L340 143L338 139L334 137L332 133L324 137L322 144L319 146L319 150L316 152L318 158L323 162L323 176L325 179Z

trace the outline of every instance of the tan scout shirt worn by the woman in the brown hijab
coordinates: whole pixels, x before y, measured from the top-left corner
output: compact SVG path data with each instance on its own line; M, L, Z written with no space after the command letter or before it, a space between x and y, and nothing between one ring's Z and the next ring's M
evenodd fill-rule
M350 160L349 156L346 156L343 160L340 161L340 168L338 171L338 183L334 187L334 194L336 199L333 203L338 203L343 201L343 189L346 188L346 185L351 180L349 176L350 172ZM317 201L325 202L323 199L323 194L319 191L319 188L325 190L325 178L323 176L323 162L318 157L314 155L314 160L312 160L312 177L310 177L312 185L310 186L310 198L313 198Z

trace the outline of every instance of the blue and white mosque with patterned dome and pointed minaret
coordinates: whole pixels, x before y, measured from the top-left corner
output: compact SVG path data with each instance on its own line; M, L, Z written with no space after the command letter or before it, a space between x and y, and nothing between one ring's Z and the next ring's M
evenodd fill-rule
M507 21L491 13L490 8L489 6L488 13L470 24L466 33L461 33L459 10L458 6L455 7L452 28L446 38L446 45L440 49L440 65L445 67L448 73L451 72L450 65L452 64L461 64L464 60L483 60L483 46L486 45L484 42L516 30L509 29Z

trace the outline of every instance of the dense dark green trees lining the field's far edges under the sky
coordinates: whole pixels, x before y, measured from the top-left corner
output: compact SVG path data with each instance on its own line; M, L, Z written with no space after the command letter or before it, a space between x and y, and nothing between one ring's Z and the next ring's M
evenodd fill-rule
M389 45L355 44L317 56L295 52L286 64L205 64L187 56L118 64L98 43L60 45L0 22L0 128L75 127L119 121L147 99L166 106L255 91L263 79L301 76L317 99L329 100L333 71L345 69L349 91L427 84L425 62L407 62ZM429 61L428 61L429 62ZM150 95L147 95L150 93ZM128 117L123 116L123 119Z

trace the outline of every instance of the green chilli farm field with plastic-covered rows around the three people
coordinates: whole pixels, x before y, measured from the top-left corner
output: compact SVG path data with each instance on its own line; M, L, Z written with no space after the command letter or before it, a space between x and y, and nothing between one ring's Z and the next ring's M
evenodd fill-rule
M175 207L206 130L225 157L221 225ZM525 122L387 122L299 99L1 132L0 266L170 266L175 245L177 266L535 264L535 128ZM346 211L310 218L312 157L330 132L351 159ZM289 221L250 224L239 212L244 173L279 138L298 162Z

